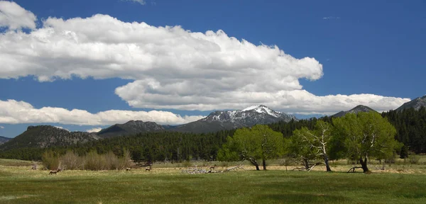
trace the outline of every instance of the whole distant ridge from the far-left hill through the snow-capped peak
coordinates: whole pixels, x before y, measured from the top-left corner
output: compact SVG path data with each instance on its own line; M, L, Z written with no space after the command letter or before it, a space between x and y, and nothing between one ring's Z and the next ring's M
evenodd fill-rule
M51 125L28 126L21 135L0 145L0 150L24 147L53 147L75 145L77 142L89 142L109 137L136 135L141 132L177 131L177 132L217 132L234 128L250 127L257 124L269 124L284 120L297 120L295 116L273 111L260 105L238 111L214 111L207 117L184 125L158 125L154 122L130 120L124 124L111 125L99 132L70 132Z

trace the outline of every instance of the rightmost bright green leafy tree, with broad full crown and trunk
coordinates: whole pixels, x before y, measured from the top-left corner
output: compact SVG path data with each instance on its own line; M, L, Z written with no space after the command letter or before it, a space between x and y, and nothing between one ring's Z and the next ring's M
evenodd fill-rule
M368 172L368 158L391 156L398 144L393 125L376 112L349 113L333 118L333 124L344 140L346 158L359 159L361 166L351 169L361 168L364 173Z

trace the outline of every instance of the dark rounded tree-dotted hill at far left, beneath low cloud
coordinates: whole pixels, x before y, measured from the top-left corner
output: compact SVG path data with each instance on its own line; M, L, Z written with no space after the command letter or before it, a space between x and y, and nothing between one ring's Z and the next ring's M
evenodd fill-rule
M75 145L77 142L99 140L100 137L89 132L70 132L51 125L28 126L21 135L0 145L0 150L24 147L53 147Z

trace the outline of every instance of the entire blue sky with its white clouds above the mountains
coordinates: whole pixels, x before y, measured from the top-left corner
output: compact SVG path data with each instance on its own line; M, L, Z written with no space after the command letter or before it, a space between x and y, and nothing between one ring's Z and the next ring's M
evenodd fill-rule
M426 94L425 1L13 2L0 1L6 137L256 104L387 111Z

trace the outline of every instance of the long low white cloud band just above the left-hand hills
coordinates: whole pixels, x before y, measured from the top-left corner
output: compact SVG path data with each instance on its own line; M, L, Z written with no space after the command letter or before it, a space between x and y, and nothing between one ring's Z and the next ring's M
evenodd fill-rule
M129 120L152 121L158 124L177 125L201 119L201 115L180 116L167 111L119 111L110 110L89 113L84 110L43 107L34 108L30 103L0 100L0 123L60 123L66 125L112 125Z

